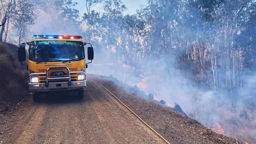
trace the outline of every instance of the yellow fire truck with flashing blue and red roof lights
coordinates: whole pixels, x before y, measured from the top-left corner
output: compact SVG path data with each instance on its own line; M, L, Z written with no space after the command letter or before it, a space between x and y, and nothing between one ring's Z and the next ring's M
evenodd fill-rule
M90 62L86 63L87 57ZM28 48L28 49L26 49ZM86 68L92 63L92 44L82 36L34 35L29 42L20 44L18 60L26 62L29 71L28 89L36 102L40 94L53 91L77 91L78 98L86 90Z

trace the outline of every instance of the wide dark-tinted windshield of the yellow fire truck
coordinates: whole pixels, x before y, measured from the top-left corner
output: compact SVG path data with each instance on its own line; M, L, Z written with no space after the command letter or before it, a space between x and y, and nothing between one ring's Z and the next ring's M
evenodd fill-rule
M35 62L67 61L84 59L84 44L77 41L33 41L29 59Z

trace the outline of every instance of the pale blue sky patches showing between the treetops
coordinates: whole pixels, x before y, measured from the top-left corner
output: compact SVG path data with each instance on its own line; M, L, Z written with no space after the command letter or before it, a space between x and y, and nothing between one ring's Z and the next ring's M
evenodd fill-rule
M74 0L74 2L78 2L78 6L76 6L76 9L80 11L80 15L83 15L86 12L85 0ZM124 12L124 14L135 14L136 10L140 8L141 4L147 4L147 0L122 0L122 2L127 7L127 10ZM92 10L102 12L103 4L95 4L92 7Z

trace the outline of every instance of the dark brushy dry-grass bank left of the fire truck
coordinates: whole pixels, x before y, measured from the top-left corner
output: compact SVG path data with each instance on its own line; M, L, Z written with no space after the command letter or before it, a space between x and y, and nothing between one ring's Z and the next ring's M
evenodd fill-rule
M0 104L18 102L26 94L28 72L18 62L17 49L12 44L0 44Z

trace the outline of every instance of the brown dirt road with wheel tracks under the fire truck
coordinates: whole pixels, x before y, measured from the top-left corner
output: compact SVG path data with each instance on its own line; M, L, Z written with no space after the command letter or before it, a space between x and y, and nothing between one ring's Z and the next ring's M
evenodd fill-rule
M88 82L83 100L76 94L29 99L0 131L1 144L164 144L108 92Z

